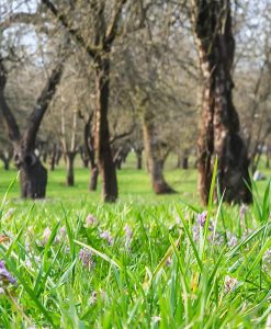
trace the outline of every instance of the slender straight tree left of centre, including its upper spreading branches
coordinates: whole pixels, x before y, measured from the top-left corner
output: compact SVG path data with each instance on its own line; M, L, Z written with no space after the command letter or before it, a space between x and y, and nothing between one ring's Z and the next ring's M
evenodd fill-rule
M99 171L102 177L102 192L105 202L117 198L116 171L110 147L108 122L110 97L110 54L117 36L117 25L126 0L114 1L111 19L106 24L105 2L92 1L90 4L91 30L84 38L80 26L72 26L71 21L52 1L42 0L54 16L61 23L77 44L82 46L94 63L95 76L95 109L94 109L94 146ZM82 7L82 9L84 9ZM91 39L90 39L91 38Z

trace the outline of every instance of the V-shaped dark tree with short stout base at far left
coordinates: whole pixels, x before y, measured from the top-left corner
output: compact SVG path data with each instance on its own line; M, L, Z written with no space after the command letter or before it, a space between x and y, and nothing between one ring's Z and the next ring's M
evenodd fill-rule
M55 94L61 73L63 64L58 64L52 71L46 86L29 116L27 126L24 133L21 134L15 116L5 100L4 88L7 84L8 72L4 67L3 57L0 55L0 110L2 111L8 127L9 138L13 144L15 164L20 169L22 197L45 197L47 170L35 155L35 143L42 120Z

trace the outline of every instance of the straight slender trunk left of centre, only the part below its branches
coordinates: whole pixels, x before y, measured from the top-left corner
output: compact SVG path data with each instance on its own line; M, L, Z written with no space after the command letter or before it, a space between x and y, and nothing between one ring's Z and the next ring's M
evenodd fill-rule
M109 54L108 54L109 55ZM102 177L102 196L104 202L117 198L116 170L110 147L108 122L110 95L110 60L108 57L95 57L97 103L94 111L94 147L99 172Z

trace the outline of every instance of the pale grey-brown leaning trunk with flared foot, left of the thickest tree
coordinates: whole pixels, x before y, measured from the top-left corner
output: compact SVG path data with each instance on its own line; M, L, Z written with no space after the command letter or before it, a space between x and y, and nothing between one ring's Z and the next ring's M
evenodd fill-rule
M174 193L174 190L166 182L163 178L163 159L160 159L158 136L154 124L154 115L149 109L145 109L143 114L143 136L154 192L156 194Z

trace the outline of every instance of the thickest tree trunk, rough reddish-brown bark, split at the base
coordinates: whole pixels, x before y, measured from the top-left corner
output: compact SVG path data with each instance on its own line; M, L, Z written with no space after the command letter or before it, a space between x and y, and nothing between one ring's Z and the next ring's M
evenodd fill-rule
M203 76L203 104L197 139L199 190L207 203L215 157L218 183L227 202L251 202L248 155L233 104L232 65L235 41L229 0L191 0L194 38ZM248 184L248 186L247 186Z

